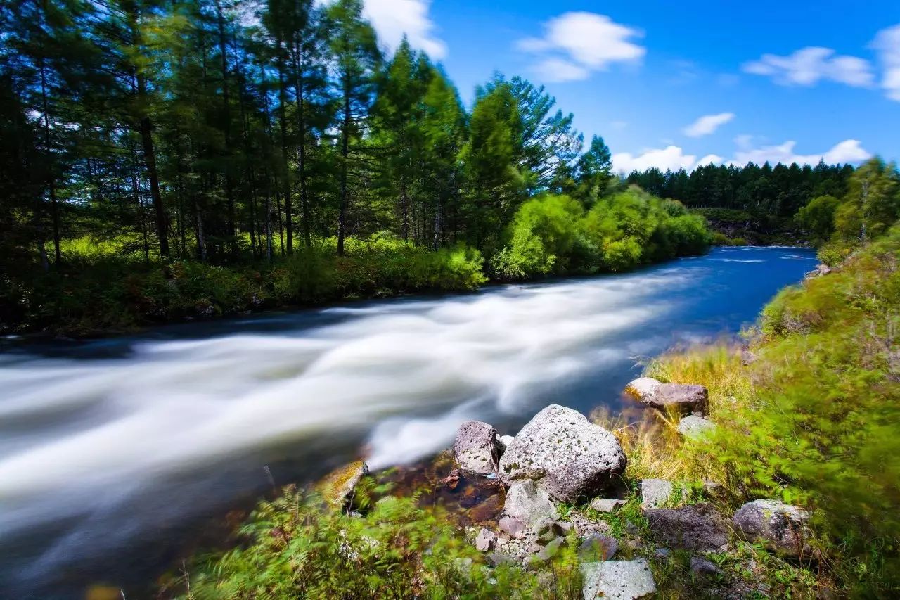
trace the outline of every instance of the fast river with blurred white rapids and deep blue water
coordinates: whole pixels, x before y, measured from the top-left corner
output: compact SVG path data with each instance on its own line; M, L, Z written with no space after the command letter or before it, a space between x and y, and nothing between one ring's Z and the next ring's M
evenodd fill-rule
M187 323L0 354L0 597L147 594L229 509L365 455L616 409L638 361L734 334L809 250L723 248L626 275ZM198 542L199 543L199 542Z

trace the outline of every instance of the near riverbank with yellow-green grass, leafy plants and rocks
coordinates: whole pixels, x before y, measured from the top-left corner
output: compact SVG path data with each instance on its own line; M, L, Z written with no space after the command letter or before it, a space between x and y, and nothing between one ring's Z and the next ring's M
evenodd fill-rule
M694 435L691 432L697 429L685 427L671 412L635 423L595 415L594 423L615 433L627 457L621 477L625 490L610 496L585 489L560 502L565 493L552 487L551 496L557 501L553 523L545 523L546 532L526 528L524 535L537 536L533 548L537 560L527 560L524 568L502 559L504 553L516 554L513 548L520 544L518 533L509 530L515 523L500 521L500 511L471 526L448 518L446 508L417 505L422 496L409 493L376 502L371 510L364 503L356 508L358 514L329 517L340 523L336 532L356 532L347 534L349 548L365 549L350 555L352 564L347 568L360 577L373 576L367 581L399 595L408 589L402 582L385 580L370 570L379 561L406 573L408 581L425 582L424 595L487 597L497 590L515 595L534 589L529 586L542 586L547 597L575 598L591 581L605 589L603 574L614 571L616 576L607 579L636 582L629 588L634 593L623 597L639 597L651 589L664 597L895 595L900 589L896 578L900 454L894 442L900 426L900 372L893 338L900 308L898 255L900 230L895 229L854 252L838 269L817 272L801 286L782 291L763 311L748 348L697 347L654 360L646 368L647 376L704 386L707 405L701 412L715 428L705 426L706 432ZM653 397L658 384L643 385L653 390L636 385L636 393ZM522 432L512 441L504 439L502 453L500 448L490 450L490 444L476 448L489 449L491 456L500 454L497 467L504 479L504 465L510 464L505 453L510 448L524 451L525 441L534 440L534 429L527 425L522 430L526 434L521 443ZM571 436L550 437L558 443ZM487 439L492 440L491 435ZM554 444L549 448L558 455ZM465 468L465 456L457 448L456 468ZM450 468L446 465L446 473L437 472L434 486L459 485ZM502 503L513 519L521 518L509 514L510 495L518 494L513 492L517 480L513 474L507 482ZM373 481L381 486L376 498L391 495L389 481L383 477ZM547 491L545 477L538 478L538 486ZM646 505L648 491L659 489L663 493L656 495L656 502L662 507ZM285 497L294 501L297 496L292 494ZM539 496L527 505L540 505ZM598 497L608 500L599 502ZM386 506L404 506L397 514L409 521L392 520L384 512ZM773 514L778 518L767 522ZM273 512L264 507L250 523L285 516L277 508ZM422 558L428 544L418 552L414 548L411 556L393 554L391 544L398 532L424 534L428 527L419 530L420 523L445 528L428 530L439 533L440 543L449 544L446 550L441 547L442 561ZM590 523L599 530L591 531ZM309 534L294 527L281 542L272 540L271 530L254 529L252 524L245 531L251 533L249 545L234 550L228 559L197 563L192 580L199 586L194 587L197 593L216 595L227 589L231 597L244 597L247 582L259 583L255 577L270 572L266 565L290 563L292 543L303 546L300 540ZM445 537L449 541L443 541ZM716 541L715 548L703 543L719 538L722 543ZM370 544L369 539L378 542ZM596 541L594 550L589 540ZM338 541L324 538L320 543L329 548ZM585 559L584 552L591 551L595 553ZM335 552L317 553L304 564L321 569L317 579L327 578L332 572L324 556L338 564L347 561L347 556ZM248 556L253 559L248 561ZM602 566L585 568L586 563ZM303 568L290 568L279 580L295 584L293 577L305 577L304 573ZM363 586L360 589L368 585L356 576L338 578L355 581ZM450 580L462 582L462 589L447 587Z

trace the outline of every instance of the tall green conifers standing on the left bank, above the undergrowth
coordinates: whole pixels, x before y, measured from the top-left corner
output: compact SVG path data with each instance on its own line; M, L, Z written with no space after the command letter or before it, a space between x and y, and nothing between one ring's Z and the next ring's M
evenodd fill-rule
M390 235L489 255L541 192L590 202L610 155L543 87L494 77L467 110L360 0L27 0L0 7L2 250L75 241L147 262L273 259Z

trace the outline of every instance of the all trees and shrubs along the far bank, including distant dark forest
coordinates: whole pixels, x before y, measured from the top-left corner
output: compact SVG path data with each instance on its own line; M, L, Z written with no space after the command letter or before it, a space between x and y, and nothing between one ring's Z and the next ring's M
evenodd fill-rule
M0 23L5 332L618 271L708 243L630 183L781 218L852 172L621 180L543 87L497 75L466 106L424 52L386 52L359 0L51 0Z

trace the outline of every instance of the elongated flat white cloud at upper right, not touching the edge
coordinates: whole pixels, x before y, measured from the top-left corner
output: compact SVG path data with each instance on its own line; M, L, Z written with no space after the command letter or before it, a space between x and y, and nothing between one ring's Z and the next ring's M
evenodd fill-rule
M831 48L810 46L788 56L763 54L759 60L744 63L743 71L772 77L781 86L815 86L820 81L835 81L854 87L869 87L875 75L868 60L835 55Z

